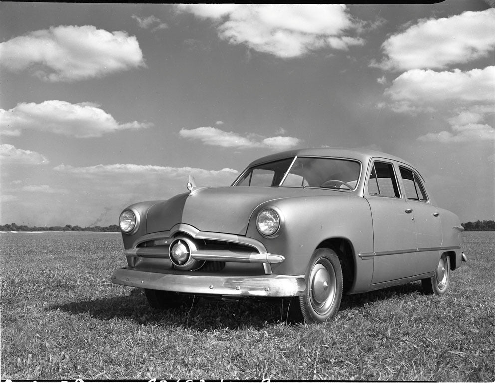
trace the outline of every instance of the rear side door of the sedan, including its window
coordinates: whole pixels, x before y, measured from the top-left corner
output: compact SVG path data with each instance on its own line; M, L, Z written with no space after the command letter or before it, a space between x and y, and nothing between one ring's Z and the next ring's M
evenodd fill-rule
M404 195L416 223L418 253L413 275L429 273L437 267L442 246L440 213L430 204L420 176L408 166L399 166L399 171Z

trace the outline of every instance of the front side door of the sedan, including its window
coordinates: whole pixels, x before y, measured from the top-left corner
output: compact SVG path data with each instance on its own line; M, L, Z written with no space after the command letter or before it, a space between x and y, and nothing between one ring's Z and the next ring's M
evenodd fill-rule
M371 207L374 236L372 284L410 277L416 258L416 226L402 197L393 161L370 164L364 197Z

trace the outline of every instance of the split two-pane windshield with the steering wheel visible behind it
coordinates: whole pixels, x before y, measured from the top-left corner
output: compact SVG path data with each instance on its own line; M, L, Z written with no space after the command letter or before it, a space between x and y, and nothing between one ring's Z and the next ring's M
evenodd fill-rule
M357 185L359 176L360 163L358 161L297 157L254 166L248 169L234 186L277 187L280 185L352 191Z

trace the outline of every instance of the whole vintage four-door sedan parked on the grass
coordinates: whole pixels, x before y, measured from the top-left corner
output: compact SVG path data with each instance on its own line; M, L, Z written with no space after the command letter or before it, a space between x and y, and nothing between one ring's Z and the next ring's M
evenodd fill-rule
M343 293L421 280L443 294L466 256L458 217L418 171L367 150L302 149L252 162L230 187L195 187L119 217L127 267L112 282L151 306L193 296L291 298L305 322L334 317Z

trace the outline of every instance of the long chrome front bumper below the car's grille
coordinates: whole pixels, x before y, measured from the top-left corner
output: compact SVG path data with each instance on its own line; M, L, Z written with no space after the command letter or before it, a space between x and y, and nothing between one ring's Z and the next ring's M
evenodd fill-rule
M153 273L133 268L116 269L112 283L136 288L220 296L292 297L305 291L304 276L216 276Z

